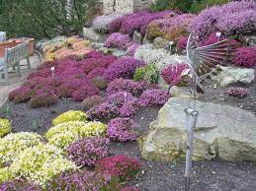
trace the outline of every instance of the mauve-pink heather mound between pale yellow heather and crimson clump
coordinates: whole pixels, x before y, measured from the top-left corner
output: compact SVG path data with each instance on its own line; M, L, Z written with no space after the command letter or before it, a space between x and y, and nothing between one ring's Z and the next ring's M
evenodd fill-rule
M109 140L105 138L86 138L81 139L67 149L68 158L78 166L95 165L96 160L106 158Z

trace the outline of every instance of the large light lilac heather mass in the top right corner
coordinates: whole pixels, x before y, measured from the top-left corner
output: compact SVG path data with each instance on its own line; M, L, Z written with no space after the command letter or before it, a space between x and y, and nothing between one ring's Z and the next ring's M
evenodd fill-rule
M227 34L250 31L253 28L253 0L230 2L222 6L213 6L201 12L189 26L194 36L203 38L211 32Z

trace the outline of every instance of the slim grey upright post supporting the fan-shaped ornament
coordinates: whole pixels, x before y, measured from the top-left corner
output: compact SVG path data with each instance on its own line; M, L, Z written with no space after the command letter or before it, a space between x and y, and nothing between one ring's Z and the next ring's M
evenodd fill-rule
M192 156L193 156L193 141L194 141L194 129L197 125L199 112L193 108L185 109L186 120L187 120L187 130L188 130L188 142L187 142L187 156L186 156L186 169L185 169L185 191L190 191L190 174L192 166ZM190 123L190 118L193 118L192 123Z

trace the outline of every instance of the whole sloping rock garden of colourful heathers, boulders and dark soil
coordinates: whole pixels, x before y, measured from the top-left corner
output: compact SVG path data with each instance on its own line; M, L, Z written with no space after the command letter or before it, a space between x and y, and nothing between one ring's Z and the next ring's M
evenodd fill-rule
M158 3L37 40L43 63L0 107L0 191L184 190L192 103L191 190L256 190L255 2ZM196 98L190 33L236 47Z

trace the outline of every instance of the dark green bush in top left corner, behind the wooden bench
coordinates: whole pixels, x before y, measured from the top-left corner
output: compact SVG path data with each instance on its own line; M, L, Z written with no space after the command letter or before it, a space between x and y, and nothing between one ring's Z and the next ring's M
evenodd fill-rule
M37 38L76 34L95 13L94 0L0 0L0 29L9 36Z

